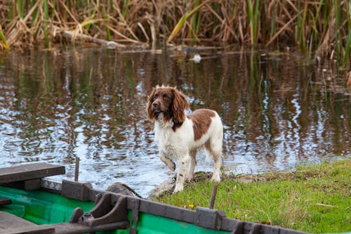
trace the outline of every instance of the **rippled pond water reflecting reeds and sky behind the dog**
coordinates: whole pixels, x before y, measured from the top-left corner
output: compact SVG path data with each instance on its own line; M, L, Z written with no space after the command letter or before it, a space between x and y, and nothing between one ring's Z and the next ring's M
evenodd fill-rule
M284 170L351 154L351 91L298 54L258 51L109 51L62 47L0 56L0 167L63 164L105 189L140 195L174 175L161 162L146 119L147 94L178 86L192 110L225 124L224 170ZM330 79L330 80L329 80ZM212 171L199 153L196 171Z

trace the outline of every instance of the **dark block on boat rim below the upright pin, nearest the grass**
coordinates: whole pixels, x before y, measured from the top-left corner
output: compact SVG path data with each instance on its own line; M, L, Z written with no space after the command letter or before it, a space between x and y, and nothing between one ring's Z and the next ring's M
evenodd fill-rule
M225 217L225 212L223 211L198 207L196 212L196 224L204 228L219 230L223 217Z

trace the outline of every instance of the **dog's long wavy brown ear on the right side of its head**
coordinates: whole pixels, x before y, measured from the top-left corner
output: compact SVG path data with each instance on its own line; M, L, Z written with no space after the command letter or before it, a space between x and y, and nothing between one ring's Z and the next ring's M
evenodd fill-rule
M172 89L173 92L173 103L171 110L173 112L173 122L183 123L185 121L185 109L189 108L189 103L185 95L178 91L178 89Z

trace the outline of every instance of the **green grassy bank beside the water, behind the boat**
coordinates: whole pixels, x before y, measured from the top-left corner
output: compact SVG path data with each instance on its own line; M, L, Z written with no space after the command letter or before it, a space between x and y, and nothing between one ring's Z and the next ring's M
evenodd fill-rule
M208 207L213 183L206 177L197 175L182 193L157 200L188 209ZM230 218L310 233L351 231L351 159L260 176L227 176L218 183L215 209Z

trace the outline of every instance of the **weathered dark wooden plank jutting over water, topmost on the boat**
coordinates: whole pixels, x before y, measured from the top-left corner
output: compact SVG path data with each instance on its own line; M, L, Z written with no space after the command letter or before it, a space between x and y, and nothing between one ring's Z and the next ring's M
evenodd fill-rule
M60 174L65 174L65 167L45 162L23 164L15 167L0 168L0 183L27 181Z

